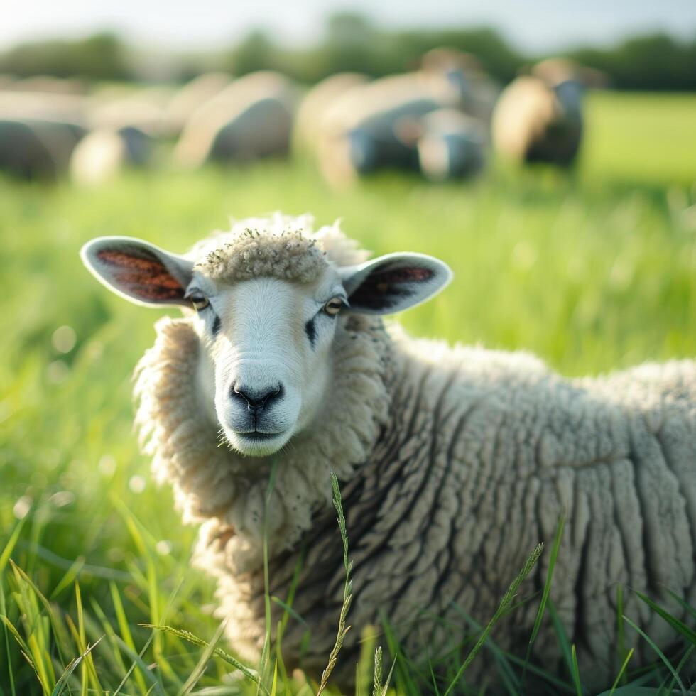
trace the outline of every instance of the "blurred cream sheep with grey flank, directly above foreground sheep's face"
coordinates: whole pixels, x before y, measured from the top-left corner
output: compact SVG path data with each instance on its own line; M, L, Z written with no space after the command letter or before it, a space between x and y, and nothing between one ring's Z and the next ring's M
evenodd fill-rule
M175 149L185 167L248 162L288 153L295 87L277 72L252 72L232 82L191 116Z

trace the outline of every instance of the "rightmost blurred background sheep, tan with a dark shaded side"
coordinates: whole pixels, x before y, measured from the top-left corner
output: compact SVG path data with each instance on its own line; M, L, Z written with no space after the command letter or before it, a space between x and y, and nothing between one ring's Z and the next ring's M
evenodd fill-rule
M599 84L597 71L561 59L540 62L501 94L491 125L494 147L518 162L571 165L582 138L582 92Z

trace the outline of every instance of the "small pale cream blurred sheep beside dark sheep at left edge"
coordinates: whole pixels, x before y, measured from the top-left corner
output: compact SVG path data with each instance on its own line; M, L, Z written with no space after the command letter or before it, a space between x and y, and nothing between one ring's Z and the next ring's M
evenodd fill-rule
M124 167L141 167L151 158L152 138L134 126L97 129L80 141L70 158L70 176L80 185L97 185Z

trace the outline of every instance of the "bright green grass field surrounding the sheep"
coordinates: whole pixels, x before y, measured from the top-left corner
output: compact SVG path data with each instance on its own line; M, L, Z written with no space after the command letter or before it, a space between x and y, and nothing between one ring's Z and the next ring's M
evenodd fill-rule
M0 695L60 693L65 666L101 636L63 683L72 693L122 680L124 694L255 692L225 676L224 659L203 670L202 648L139 625L210 641L212 583L190 568L195 530L131 432L130 374L158 312L98 286L83 242L129 234L183 251L231 215L342 217L376 253L452 266L450 288L401 317L416 335L530 350L570 375L693 357L695 123L696 96L597 95L573 175L494 168L472 185L384 175L332 192L302 163L128 175L97 190L0 180L0 614L38 671L3 626Z

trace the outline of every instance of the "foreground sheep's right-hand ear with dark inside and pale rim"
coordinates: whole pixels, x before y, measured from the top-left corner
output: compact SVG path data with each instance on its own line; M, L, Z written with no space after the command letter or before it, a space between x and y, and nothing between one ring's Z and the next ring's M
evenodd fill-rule
M393 314L430 300L452 280L446 263L425 254L387 254L342 268L349 311Z

